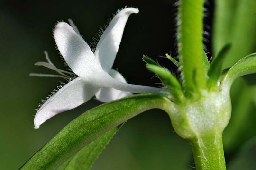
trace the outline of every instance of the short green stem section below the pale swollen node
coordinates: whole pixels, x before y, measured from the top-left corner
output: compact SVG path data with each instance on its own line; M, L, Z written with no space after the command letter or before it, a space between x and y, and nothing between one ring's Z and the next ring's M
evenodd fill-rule
M226 170L222 134L197 136L191 144L197 170Z

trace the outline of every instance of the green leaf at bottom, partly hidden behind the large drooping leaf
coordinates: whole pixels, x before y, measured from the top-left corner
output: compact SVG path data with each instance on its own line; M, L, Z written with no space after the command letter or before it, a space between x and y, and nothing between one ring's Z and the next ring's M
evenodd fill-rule
M91 144L86 145L73 157L65 161L57 170L90 170L94 161L96 161L120 127L115 127L91 142Z

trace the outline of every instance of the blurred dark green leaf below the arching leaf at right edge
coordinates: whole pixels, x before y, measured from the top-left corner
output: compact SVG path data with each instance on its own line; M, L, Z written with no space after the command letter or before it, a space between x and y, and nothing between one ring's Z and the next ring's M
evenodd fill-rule
M241 88L241 86L245 88ZM237 98L234 97L236 93L240 94ZM243 78L238 78L232 85L231 97L234 98L232 108L236 109L232 110L229 125L223 132L224 149L228 152L256 134L256 108L253 106L252 100L250 100L253 95Z

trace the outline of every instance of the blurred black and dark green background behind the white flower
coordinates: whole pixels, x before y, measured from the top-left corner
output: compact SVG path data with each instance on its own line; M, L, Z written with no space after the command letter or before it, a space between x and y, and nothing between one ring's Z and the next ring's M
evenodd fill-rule
M46 68L34 66L35 62L45 60L45 50L58 68L65 68L52 38L57 21L71 18L85 40L92 42L108 17L125 5L137 7L140 12L128 19L114 68L126 77L128 83L157 86L159 80L146 70L141 57L147 54L155 59L170 51L175 53L173 0L0 0L0 170L17 170L71 120L101 104L92 99L46 121L40 129L34 129L34 109L40 99L45 99L59 81L65 82L58 78L28 76L31 72L51 73ZM209 1L206 20L209 26L213 5ZM207 39L206 46L211 52L211 37ZM176 71L168 59L157 59ZM254 132L250 136L254 136ZM240 147L245 140L241 139L227 152L230 170L239 170L240 165L248 165L248 162L252 163L249 168L254 169L256 142L252 139ZM235 164L233 158L239 161ZM92 169L188 170L192 166L190 145L176 135L167 114L150 110L130 119L122 127Z

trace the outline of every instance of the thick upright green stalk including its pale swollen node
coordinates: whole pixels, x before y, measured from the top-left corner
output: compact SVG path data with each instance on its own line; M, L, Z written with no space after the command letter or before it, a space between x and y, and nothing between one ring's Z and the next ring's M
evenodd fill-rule
M206 98L201 98L203 89L207 88L207 67L209 67L202 53L203 5L204 0L180 1L178 50L183 86L187 96L192 94L194 98L195 94L199 94L200 97L196 97L195 103L188 102L188 105L183 107L186 108L183 114L176 118L171 116L171 120L175 131L192 144L197 170L226 170L222 131L229 121L229 104L218 106L218 94L215 93L204 94ZM221 100L229 101L225 98ZM214 111L215 109L217 112ZM225 121L221 123L221 120L216 120L217 117L221 119L222 116L225 117Z

